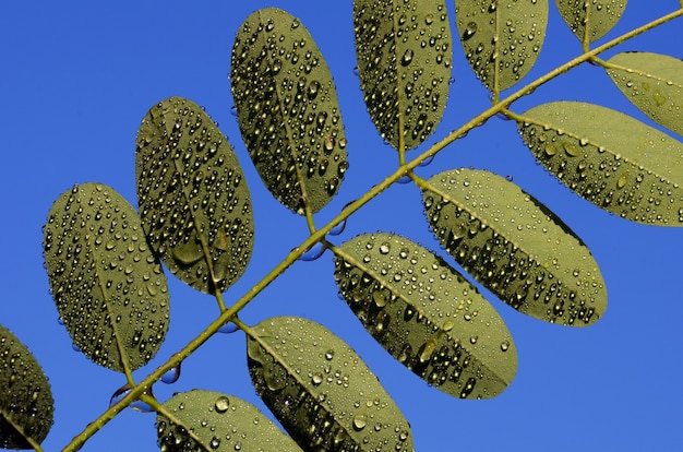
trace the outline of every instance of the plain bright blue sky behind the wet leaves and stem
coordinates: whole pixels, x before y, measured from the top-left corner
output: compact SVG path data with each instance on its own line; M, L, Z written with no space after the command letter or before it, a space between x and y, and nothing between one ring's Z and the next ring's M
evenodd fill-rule
M316 216L322 225L391 174L397 163L395 151L382 143L370 121L354 73L351 1L27 0L0 5L0 127L4 134L0 237L5 253L0 271L0 323L29 347L50 379L56 423L45 450L65 445L107 408L109 397L125 380L74 352L57 322L43 267L40 227L53 200L74 183L109 185L135 204L134 140L149 107L173 95L204 106L235 146L245 173L254 202L255 248L242 279L225 294L226 304L244 294L305 238L304 219L279 205L261 183L230 114L227 74L235 34L253 10L267 5L301 19L326 57L340 93L350 168L338 197ZM679 7L674 0L631 0L608 38ZM447 2L447 8L454 28L453 3ZM683 58L680 43L679 20L619 50ZM454 50L455 83L444 120L426 145L489 102L458 43ZM525 81L579 51L578 41L551 4L546 44ZM592 102L647 121L591 66L537 90L513 110L556 99ZM329 254L297 263L243 311L242 320L256 323L272 316L302 316L334 331L379 376L411 424L419 451L678 450L683 443L683 385L679 382L683 371L683 230L633 224L583 201L535 163L510 121L491 119L419 174L429 177L469 166L512 176L560 215L590 248L609 294L604 318L589 329L574 330L519 314L484 290L507 323L519 357L517 377L501 396L481 402L455 400L395 362L337 298ZM375 230L395 231L439 250L421 212L420 193L411 185L394 186L372 201L335 240ZM213 298L167 274L170 331L156 358L135 372L137 379L196 336L218 313ZM249 382L244 361L242 334L217 335L183 362L175 384L158 383L155 394L164 401L176 391L200 388L233 394L265 409ZM154 417L127 409L83 450L156 450Z

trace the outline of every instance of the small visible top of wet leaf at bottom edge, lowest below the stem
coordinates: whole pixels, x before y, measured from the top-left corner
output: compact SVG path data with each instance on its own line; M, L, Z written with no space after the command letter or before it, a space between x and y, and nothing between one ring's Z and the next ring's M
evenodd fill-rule
M301 451L255 406L231 395L192 390L163 406L156 427L165 452Z

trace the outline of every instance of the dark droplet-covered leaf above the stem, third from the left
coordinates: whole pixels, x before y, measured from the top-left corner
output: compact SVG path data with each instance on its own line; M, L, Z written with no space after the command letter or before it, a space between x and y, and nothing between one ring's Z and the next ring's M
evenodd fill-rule
M244 272L254 238L230 143L202 108L170 97L149 109L135 144L137 202L155 253L195 289L225 290Z

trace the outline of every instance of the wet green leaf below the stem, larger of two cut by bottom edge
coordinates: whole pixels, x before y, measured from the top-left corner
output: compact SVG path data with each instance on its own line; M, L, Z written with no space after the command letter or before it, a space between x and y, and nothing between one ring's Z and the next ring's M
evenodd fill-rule
M307 319L279 317L247 340L256 391L304 450L412 451L394 401L344 341Z

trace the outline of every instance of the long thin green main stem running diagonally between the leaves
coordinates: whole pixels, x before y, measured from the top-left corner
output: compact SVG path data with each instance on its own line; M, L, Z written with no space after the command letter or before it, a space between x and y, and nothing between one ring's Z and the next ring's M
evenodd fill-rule
M324 240L325 236L332 230L340 222L347 219L351 216L356 211L366 205L368 202L376 198L380 193L386 190L388 187L394 185L398 179L404 177L405 175L409 175L418 165L420 165L426 159L434 156L448 144L465 135L471 129L475 129L481 124L483 124L488 119L492 116L504 111L512 103L518 100L527 94L530 94L536 88L541 86L542 84L549 82L550 80L555 79L556 76L570 71L571 69L595 58L597 55L619 45L627 39L633 38L642 33L647 32L648 29L655 28L666 22L669 22L675 17L683 15L683 8L676 10L670 14L663 15L652 22L649 22L643 26L639 26L635 29L632 29L628 33L625 33L622 36L619 36L609 43L606 43L599 47L596 47L591 51L587 53L583 53L579 57L572 59L571 61L562 64L561 67L548 72L544 75L536 79L534 82L529 83L527 86L516 91L511 94L503 100L496 103L495 105L489 107L481 114L477 115L467 123L463 124L459 129L454 130L448 135L446 135L439 143L432 145L429 150L420 154L417 158L406 163L405 165L398 167L394 173L384 178L380 183L372 187L366 194L363 194L358 200L349 203L345 209L339 212L339 214L331 219L325 226L312 233L299 247L292 249L279 264L277 264L273 270L271 270L263 278L256 283L247 294L244 294L239 300L235 302L229 309L226 309L221 312L221 314L214 320L208 326L201 332L195 338L189 342L181 350L171 356L171 358L159 366L156 370L149 373L143 381L141 381L125 397L120 400L118 403L110 406L105 413L103 413L97 419L91 423L81 433L79 433L73 440L64 448L63 451L75 451L80 449L85 441L91 438L97 430L103 428L109 420L111 420L118 413L120 413L123 408L125 408L131 402L137 400L141 394L144 392L144 389L151 386L155 381L161 378L161 376L178 365L178 362L182 361L187 357L189 357L194 350L196 350L202 344L208 341L224 324L233 320L233 317L244 308L256 295L259 295L264 288L266 288L273 281L275 281L280 274L283 274L291 264L293 264L297 259L303 254L303 252L309 249L314 243ZM411 176L412 177L412 176ZM414 180L420 180L419 178L414 178ZM239 322L239 320L238 320ZM236 322L237 323L237 322ZM240 323L237 323L238 326ZM242 324L243 325L243 324Z

